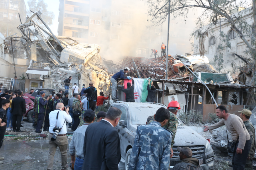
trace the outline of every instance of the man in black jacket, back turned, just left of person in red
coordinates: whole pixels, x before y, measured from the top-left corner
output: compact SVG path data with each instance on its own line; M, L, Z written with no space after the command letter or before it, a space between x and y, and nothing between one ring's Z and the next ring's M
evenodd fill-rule
M87 93L87 109L95 111L97 103L97 89L93 87L92 82L89 83L89 87L84 90L84 94Z

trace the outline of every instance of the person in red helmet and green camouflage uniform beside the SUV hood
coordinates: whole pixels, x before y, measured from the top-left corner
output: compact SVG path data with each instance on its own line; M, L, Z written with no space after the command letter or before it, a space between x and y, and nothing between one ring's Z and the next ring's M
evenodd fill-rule
M180 104L178 103L178 101L171 101L169 103L167 109L170 112L170 119L168 120L166 125L164 125L164 128L167 128L168 130L170 130L172 132L172 146L173 146L175 134L176 134L177 127L178 127L178 118L176 115L178 113L178 110L180 110ZM149 120L149 122L147 122L147 124L151 123L152 121L154 121L154 116L148 117L147 120ZM171 146L171 158L173 156L172 146Z

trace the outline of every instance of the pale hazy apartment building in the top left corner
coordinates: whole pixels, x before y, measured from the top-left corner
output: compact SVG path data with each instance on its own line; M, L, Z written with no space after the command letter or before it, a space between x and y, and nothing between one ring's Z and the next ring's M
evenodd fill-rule
M26 5L24 0L0 0L0 32L6 37L18 32L17 23L25 21ZM8 28L8 30L7 30Z

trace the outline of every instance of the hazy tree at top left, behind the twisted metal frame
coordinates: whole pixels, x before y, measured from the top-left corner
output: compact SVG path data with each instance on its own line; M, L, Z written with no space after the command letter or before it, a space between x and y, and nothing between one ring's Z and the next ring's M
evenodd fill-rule
M54 19L55 15L53 12L48 11L47 7L48 5L44 2L44 0L28 0L28 6L29 6L29 10L27 10L27 15L30 17L32 16L32 12L42 12L41 17L43 18L44 22L50 26L52 25L52 20ZM44 24L39 20L39 22L37 22L40 26L44 27ZM45 27L44 27L45 28Z

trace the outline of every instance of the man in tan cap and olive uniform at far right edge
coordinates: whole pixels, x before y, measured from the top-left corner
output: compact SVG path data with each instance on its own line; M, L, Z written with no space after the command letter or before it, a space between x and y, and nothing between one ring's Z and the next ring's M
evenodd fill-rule
M254 129L252 123L250 123L250 121L249 121L250 116L252 115L252 112L247 109L243 109L242 111L238 111L238 112L240 112L240 118L243 120L244 125L245 125L248 133L250 134L250 138L251 138L250 140L252 143L252 146L249 151L244 169L252 170L252 160L254 158L254 154L255 154L255 150L256 150L255 129Z

